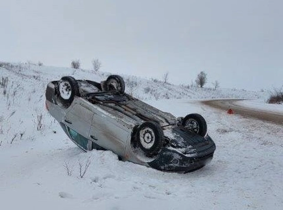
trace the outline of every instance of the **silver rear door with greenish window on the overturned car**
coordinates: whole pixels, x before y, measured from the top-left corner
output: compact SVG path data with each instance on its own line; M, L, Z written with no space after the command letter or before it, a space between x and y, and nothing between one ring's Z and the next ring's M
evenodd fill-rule
M84 106L81 101L73 102L64 116L64 124L67 126L68 134L84 150L92 149L91 141L88 140L92 119L93 111Z

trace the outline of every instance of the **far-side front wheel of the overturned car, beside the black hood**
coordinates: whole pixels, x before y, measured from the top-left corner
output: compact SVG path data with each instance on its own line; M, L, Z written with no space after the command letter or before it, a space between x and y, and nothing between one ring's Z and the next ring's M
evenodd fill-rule
M206 121L200 114L188 114L184 117L182 126L200 136L205 136L207 132Z

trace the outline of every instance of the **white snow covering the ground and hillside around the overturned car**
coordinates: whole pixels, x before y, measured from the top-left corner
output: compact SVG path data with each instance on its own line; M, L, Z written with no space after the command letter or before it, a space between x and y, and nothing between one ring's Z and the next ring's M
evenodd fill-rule
M206 119L216 144L213 160L197 171L177 174L119 161L111 151L85 153L73 144L45 110L47 83L66 75L101 81L108 74L0 67L0 81L9 78L5 95L0 86L1 209L282 209L282 126L228 115L197 100L253 98L259 100L241 103L278 111L264 104L266 92L185 89L125 76L128 84L137 83L126 91L150 105L175 116L199 113ZM79 163L84 169L88 159L91 164L80 178Z

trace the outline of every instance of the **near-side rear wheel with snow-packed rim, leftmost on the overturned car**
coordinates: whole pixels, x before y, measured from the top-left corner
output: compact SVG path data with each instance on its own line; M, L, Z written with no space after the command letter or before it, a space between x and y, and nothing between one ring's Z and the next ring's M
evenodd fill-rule
M79 85L75 78L63 76L57 85L58 98L65 107L69 107L75 96L79 96Z

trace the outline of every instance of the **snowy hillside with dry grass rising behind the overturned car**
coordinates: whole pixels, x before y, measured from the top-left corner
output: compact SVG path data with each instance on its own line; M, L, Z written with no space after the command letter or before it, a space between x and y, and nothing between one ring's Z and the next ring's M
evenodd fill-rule
M35 64L0 65L0 134L6 135L2 144L21 139L34 139L34 133L55 129L54 120L45 110L45 89L49 81L62 76L75 79L102 81L109 76L106 72L92 72L85 69L38 66ZM156 79L143 79L121 75L126 83L126 92L141 100L159 99L215 99L215 98L267 98L267 92L235 89L199 88L164 84ZM29 125L29 126L27 126Z

